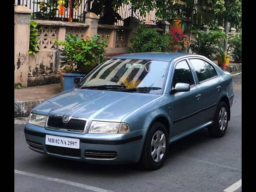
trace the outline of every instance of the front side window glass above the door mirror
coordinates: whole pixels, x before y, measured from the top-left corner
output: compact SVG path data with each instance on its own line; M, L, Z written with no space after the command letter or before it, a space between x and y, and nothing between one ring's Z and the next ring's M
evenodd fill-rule
M190 85L195 84L192 72L186 60L179 62L175 66L172 86L175 87L176 83L187 83Z

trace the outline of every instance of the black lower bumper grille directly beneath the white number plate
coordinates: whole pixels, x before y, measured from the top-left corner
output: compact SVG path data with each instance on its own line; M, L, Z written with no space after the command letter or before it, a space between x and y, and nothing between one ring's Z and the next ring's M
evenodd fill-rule
M51 154L76 157L76 158L81 157L80 149L72 149L72 148L66 148L66 147L57 147L57 146L52 146L52 145L46 145L46 150L48 153L51 153Z

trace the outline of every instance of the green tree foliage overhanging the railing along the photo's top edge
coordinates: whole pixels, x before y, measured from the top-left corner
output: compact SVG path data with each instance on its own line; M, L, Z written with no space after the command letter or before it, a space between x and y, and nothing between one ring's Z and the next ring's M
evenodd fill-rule
M158 20L180 18L192 21L195 26L206 24L211 29L217 28L223 20L229 20L236 26L241 24L241 0L183 0L180 2L184 3L177 3L174 0L95 0L91 11L101 14L105 24L114 24L120 19L116 11L122 4L130 4L134 12L140 10L141 16L155 10Z

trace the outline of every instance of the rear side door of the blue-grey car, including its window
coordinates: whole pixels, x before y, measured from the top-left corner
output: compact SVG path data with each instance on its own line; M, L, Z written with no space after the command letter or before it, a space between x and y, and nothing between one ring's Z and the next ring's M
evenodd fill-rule
M220 77L210 62L204 59L191 58L189 59L194 71L196 72L196 78L198 79L198 87L202 92L201 115L204 118L204 122L213 118L217 107L217 101L221 92L221 80Z

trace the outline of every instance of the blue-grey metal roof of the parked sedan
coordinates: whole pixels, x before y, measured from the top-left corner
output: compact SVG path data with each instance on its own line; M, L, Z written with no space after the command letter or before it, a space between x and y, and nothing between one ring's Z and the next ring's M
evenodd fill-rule
M188 53L174 53L174 52L142 52L122 54L112 57L112 59L146 59L146 60L162 60L171 61L172 59L180 56L195 55Z

